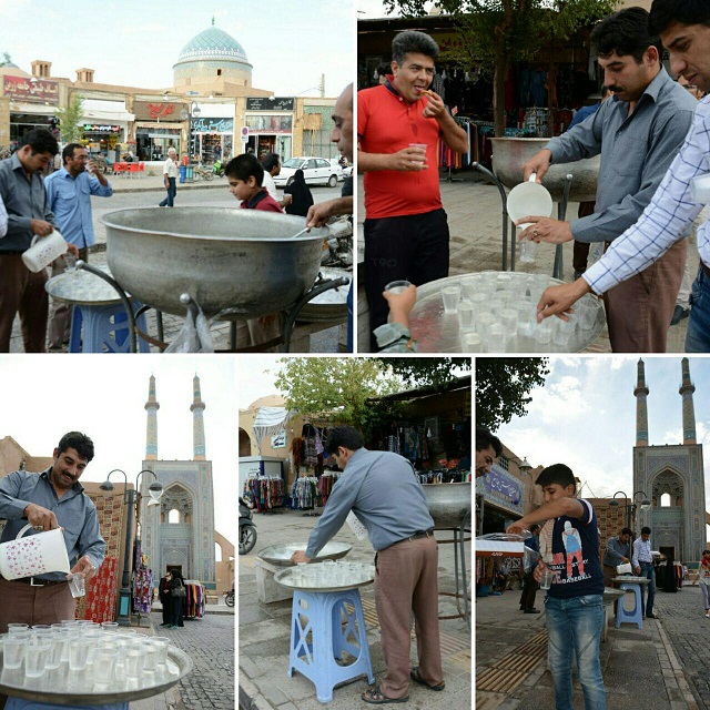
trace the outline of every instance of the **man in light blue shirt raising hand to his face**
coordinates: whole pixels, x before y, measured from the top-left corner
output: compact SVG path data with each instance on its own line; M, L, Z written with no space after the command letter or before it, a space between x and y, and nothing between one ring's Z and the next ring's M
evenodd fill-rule
M97 239L91 216L91 195L110 197L111 183L89 161L87 149L79 143L70 143L62 151L64 166L44 181L50 210L54 213L57 227L62 236L79 248L79 258L89 260L89 247ZM67 262L60 256L52 263L52 276L64 273ZM49 348L61 349L69 341L69 323L72 306L52 301L49 312Z

